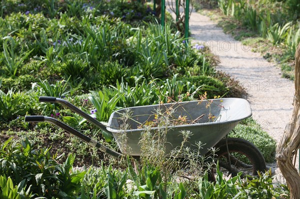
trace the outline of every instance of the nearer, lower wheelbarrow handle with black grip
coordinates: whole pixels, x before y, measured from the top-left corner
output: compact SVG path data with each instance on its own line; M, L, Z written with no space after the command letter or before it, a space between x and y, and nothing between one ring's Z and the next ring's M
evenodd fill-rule
M39 115L33 115L33 116L25 116L25 122L49 122L52 123L58 127L60 127L61 129L65 130L67 133L72 134L74 136L76 136L77 138L83 140L84 142L86 142L87 144L98 148L100 151L114 157L117 159L122 158L124 155L113 151L107 147L105 147L104 145L98 143L97 141L87 137L86 135L80 133L79 131L77 131L76 129L64 124L63 122L56 120L55 118L52 117L46 117L46 116L39 116Z

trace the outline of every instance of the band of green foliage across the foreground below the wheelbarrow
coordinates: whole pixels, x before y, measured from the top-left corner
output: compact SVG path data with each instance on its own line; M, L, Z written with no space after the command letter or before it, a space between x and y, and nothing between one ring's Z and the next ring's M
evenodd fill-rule
M207 173L194 180L172 179L165 183L157 167L134 170L127 158L126 170L101 166L74 169L75 156L68 155L63 164L49 149L35 149L27 140L0 146L0 197L3 199L270 199L288 198L287 187L272 183L270 174L242 180L240 176L224 180L217 171L216 182ZM7 174L10 174L7 176ZM180 183L178 181L181 181Z

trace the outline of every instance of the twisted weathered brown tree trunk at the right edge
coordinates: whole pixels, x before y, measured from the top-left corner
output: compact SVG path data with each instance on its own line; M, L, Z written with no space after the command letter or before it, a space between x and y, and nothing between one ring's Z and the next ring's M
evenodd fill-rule
M278 93L280 95L280 93ZM300 43L295 54L295 94L293 112L285 126L283 137L276 150L278 167L286 180L290 199L300 199L300 177L292 159L300 147Z

